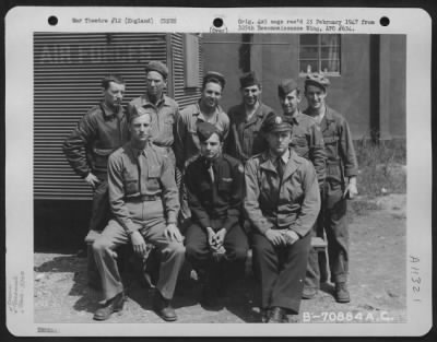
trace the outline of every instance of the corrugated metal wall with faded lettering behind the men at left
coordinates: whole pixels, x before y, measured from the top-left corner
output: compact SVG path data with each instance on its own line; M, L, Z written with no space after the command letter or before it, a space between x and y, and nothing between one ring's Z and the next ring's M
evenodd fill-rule
M169 42L172 40L172 42ZM109 72L127 82L123 105L144 92L144 64L172 62L169 94L184 107L199 90L185 92L181 34L95 33L34 35L34 198L88 200L91 190L62 153L62 142L80 118L102 98L99 86ZM172 45L175 44L174 52ZM200 52L199 52L200 56ZM170 64L170 63L169 63Z

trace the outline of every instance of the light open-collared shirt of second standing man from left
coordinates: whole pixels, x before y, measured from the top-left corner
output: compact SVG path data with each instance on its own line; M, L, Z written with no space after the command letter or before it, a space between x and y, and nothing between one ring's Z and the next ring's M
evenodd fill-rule
M129 114L132 114L133 106L152 106L155 108L151 122L151 141L158 146L170 148L174 142L174 128L179 116L177 103L173 98L163 95L157 104L154 105L150 102L147 95L144 94L133 98L129 103Z

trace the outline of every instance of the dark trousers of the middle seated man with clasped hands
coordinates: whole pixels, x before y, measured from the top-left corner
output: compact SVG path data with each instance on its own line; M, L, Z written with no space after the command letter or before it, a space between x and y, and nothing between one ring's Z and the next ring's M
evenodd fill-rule
M221 226L216 224L215 226ZM226 233L223 247L226 249L224 260L227 261L226 273L228 278L244 275L245 260L249 244L245 231L238 225L234 225ZM212 259L212 251L208 243L208 234L199 224L191 224L186 233L186 255L187 260L197 270L205 270L213 273L222 268ZM232 263L232 266L229 264ZM232 274L231 274L232 273ZM218 275L218 274L215 274Z

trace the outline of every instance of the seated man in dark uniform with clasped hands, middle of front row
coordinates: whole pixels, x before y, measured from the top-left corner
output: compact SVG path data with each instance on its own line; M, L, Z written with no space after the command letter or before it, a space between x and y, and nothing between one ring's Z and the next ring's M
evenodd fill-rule
M201 156L188 165L185 177L192 213L186 234L187 259L206 278L202 304L216 307L225 283L244 274L249 248L239 225L244 168L222 153L223 135L214 125L199 122L197 132Z

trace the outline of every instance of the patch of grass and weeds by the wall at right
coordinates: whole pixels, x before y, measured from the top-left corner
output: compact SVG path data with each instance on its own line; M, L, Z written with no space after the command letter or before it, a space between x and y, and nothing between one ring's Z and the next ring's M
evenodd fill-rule
M406 142L368 139L355 142L358 160L357 187L359 194L375 198L406 192Z

